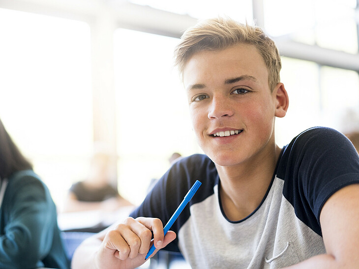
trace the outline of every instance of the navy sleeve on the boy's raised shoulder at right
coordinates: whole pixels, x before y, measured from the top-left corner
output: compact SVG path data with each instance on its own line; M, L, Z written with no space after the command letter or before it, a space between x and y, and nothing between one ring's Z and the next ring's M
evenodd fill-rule
M285 148L277 176L284 179L283 195L299 219L322 235L319 217L325 202L340 188L359 183L359 155L338 131L311 128Z

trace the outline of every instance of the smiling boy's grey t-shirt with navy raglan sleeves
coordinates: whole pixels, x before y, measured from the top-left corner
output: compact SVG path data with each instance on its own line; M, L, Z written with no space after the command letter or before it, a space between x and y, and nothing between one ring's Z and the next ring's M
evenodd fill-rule
M321 209L335 191L359 183L359 156L333 129L304 131L282 149L258 208L231 221L214 163L193 155L175 163L131 216L167 223L196 180L202 186L172 226L177 238L165 249L180 251L193 269L282 268L325 253Z

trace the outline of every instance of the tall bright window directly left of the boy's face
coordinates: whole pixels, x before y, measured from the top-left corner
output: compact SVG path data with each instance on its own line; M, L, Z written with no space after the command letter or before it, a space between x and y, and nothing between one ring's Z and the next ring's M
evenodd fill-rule
M174 152L200 152L173 51L178 39L126 29L115 31L115 86L119 191L142 202L151 179L170 167ZM136 186L136 188L133 188Z

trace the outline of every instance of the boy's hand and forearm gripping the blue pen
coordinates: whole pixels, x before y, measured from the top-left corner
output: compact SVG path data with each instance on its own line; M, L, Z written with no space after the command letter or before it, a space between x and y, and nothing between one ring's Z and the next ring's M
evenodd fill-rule
M81 243L73 255L71 268L137 268L145 263L151 231L158 248L165 247L176 238L172 231L163 236L163 225L158 218L128 217L123 223L112 225Z

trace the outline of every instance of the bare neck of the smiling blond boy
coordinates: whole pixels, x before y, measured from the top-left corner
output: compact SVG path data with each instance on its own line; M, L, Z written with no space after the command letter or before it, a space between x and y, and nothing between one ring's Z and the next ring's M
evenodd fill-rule
M216 165L222 208L227 218L238 221L260 205L272 180L280 150L274 145L262 157L253 157L245 163Z

